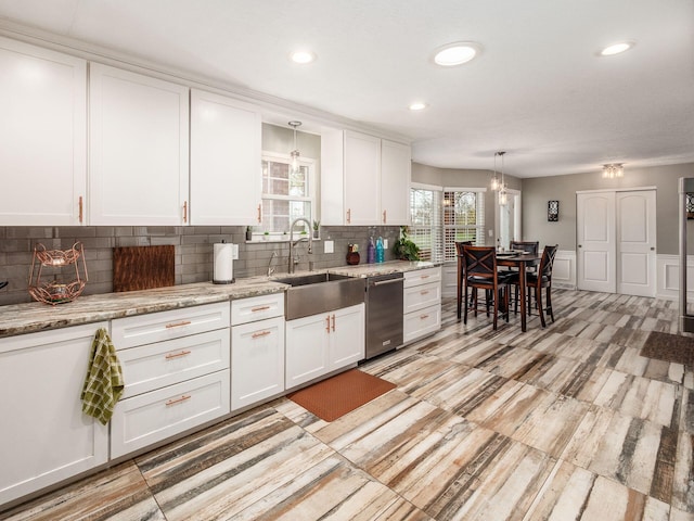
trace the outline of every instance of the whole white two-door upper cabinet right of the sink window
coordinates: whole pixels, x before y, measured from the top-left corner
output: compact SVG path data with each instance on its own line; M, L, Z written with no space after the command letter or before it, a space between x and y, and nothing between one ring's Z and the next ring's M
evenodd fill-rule
M324 225L406 225L410 147L350 130L321 136Z

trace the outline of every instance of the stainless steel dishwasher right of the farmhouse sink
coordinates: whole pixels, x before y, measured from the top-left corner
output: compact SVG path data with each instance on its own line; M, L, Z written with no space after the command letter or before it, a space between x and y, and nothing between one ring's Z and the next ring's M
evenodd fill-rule
M402 274L367 279L367 359L402 345Z

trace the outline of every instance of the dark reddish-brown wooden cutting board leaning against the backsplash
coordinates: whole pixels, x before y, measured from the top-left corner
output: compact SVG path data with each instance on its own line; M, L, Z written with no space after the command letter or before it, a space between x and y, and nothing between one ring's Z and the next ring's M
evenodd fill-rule
M113 291L151 290L175 285L175 246L113 249Z

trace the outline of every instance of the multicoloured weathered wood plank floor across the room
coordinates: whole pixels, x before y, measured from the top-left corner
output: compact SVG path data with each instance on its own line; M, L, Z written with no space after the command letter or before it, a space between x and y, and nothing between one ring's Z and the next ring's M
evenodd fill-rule
M555 291L360 368L397 389L331 423L281 398L2 520L694 520L694 374L643 358L677 303Z

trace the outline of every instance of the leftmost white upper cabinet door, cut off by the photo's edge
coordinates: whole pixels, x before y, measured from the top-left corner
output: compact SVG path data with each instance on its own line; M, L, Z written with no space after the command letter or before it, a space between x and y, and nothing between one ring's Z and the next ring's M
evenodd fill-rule
M87 62L0 38L0 226L74 226L87 186Z

